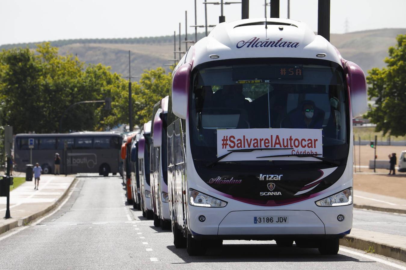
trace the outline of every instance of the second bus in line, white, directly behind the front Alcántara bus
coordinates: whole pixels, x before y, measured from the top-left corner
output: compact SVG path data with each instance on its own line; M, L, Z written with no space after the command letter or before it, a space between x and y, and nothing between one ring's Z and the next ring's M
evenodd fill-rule
M168 177L166 154L166 120L168 115L168 96L162 98L152 110L151 120L151 200L154 212L154 226L162 229L171 228L171 217L168 210Z

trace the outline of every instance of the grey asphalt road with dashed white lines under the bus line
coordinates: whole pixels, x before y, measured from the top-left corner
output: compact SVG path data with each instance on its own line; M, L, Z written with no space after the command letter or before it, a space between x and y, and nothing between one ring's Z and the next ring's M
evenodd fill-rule
M189 257L175 249L170 231L125 205L121 183L119 177L80 177L54 214L0 236L0 269L406 269L347 247L322 256L317 249L277 248L274 241L224 241L205 256Z

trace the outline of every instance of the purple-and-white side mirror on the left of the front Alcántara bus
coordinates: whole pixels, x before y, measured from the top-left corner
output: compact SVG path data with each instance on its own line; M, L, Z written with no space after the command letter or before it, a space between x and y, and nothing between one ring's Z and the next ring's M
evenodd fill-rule
M190 87L190 72L192 66L186 63L180 66L172 79L172 111L181 119L186 119L188 114L188 97Z

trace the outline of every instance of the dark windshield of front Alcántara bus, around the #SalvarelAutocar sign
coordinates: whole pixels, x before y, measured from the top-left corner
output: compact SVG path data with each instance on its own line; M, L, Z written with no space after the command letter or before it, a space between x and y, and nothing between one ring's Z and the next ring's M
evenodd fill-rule
M240 63L194 69L189 108L195 160L216 159L220 129L294 128L322 130L323 157L346 161L348 97L341 66L297 59ZM281 164L291 163L273 163Z

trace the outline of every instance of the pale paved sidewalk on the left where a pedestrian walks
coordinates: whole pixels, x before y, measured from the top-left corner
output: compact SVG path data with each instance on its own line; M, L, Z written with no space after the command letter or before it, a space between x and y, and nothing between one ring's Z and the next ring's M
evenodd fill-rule
M10 192L10 219L3 218L6 197L0 197L0 234L50 211L62 200L74 179L74 175L41 175L38 190L34 189L34 181L23 183Z

